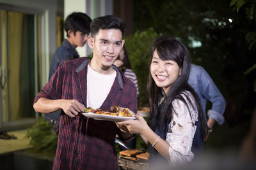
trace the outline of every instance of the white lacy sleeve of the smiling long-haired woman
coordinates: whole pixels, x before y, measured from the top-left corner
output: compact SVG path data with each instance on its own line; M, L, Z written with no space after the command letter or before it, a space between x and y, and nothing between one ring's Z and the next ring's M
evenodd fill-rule
M166 134L166 141L170 145L170 162L172 164L190 162L194 157L191 147L198 113L191 111L192 115L190 116L189 108L178 99L173 101L173 109L176 113L173 112L173 118Z

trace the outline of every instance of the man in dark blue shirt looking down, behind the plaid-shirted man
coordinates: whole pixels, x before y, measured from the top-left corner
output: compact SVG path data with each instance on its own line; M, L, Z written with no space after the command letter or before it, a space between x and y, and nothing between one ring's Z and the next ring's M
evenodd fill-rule
M64 29L67 32L67 39L63 40L62 45L52 57L48 80L51 79L61 62L79 57L76 47L86 44L91 21L92 19L88 15L81 12L73 12L65 19ZM58 134L60 110L45 115L45 119L52 124L52 130Z

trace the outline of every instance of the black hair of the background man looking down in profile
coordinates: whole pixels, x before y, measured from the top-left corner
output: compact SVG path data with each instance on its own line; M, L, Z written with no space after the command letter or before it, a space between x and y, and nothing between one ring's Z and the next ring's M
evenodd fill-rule
M71 13L64 21L64 29L67 32L67 37L69 37L68 30L73 31L74 35L76 35L77 31L81 31L83 34L89 34L91 22L92 19L85 13Z

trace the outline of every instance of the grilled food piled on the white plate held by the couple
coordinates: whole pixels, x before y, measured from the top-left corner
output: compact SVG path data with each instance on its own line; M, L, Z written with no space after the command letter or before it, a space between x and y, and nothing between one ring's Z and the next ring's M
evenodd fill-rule
M109 111L103 111L102 109L96 109L94 110L91 107L88 107L84 110L85 113L95 113L99 115L111 115L111 116L118 116L118 117L132 117L131 113L129 113L129 109L125 108L119 108L118 106L112 106Z

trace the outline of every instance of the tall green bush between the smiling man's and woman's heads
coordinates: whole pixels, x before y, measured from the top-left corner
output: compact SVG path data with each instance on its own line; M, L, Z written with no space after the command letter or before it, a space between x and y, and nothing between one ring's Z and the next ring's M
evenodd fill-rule
M138 78L140 97L138 106L149 106L147 81L150 64L150 46L152 41L159 36L154 29L137 31L132 36L125 38L125 47L129 54L132 70Z

